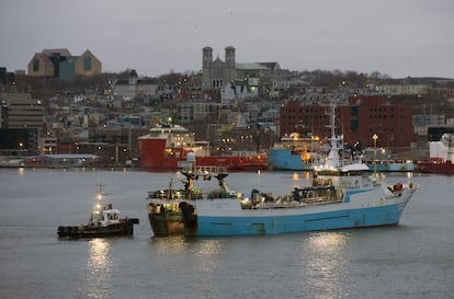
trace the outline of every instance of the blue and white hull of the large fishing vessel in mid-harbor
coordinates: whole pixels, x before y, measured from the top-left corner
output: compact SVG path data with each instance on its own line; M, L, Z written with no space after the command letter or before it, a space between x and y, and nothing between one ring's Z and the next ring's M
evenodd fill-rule
M183 210L185 234L257 235L393 226L399 222L416 189L389 199L362 200L352 195L351 200L339 204L285 209L242 210L232 199L202 200L195 203L196 215L185 215Z

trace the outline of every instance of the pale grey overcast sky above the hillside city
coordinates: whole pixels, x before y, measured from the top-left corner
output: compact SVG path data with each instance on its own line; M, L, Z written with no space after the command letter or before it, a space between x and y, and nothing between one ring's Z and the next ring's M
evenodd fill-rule
M453 0L0 0L0 67L45 48L90 49L103 71L159 76L224 60L290 70L454 78Z

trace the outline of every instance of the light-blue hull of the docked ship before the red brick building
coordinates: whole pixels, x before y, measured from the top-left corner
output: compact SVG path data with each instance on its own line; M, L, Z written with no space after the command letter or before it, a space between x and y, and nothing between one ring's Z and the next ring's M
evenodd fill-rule
M270 149L268 151L268 163L273 170L314 170L314 163L304 162L298 153L292 153L290 149Z

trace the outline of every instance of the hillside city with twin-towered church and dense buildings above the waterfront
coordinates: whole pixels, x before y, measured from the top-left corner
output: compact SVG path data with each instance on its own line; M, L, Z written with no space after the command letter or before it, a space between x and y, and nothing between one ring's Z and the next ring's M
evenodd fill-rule
M26 71L0 68L2 165L77 153L99 157L97 166L140 166L138 138L162 123L209 141L213 154L263 152L295 131L328 138L325 112L333 104L338 133L361 149L427 159L428 141L454 133L454 79L292 71L238 62L235 51L214 59L204 47L201 70L155 78L103 72L102 57L64 48L31 55Z

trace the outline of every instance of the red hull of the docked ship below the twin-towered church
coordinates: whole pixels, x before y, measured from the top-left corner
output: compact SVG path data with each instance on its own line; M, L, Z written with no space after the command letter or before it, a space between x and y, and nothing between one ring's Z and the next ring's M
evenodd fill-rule
M169 153L170 152L170 153ZM140 166L146 170L178 170L186 162L189 151L166 149L164 139L139 139ZM230 171L256 171L268 168L265 154L195 157L197 165L224 166Z

